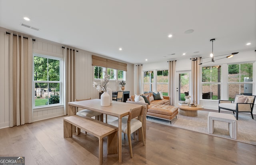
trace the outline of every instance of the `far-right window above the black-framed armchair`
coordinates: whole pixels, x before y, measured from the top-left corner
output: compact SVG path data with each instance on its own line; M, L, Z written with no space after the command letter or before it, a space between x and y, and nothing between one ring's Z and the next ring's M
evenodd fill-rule
M228 98L236 94L252 95L252 63L228 65Z

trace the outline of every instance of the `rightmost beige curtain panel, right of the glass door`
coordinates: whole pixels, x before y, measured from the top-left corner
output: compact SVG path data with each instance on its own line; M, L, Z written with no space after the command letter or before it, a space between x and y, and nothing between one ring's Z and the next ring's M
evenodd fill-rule
M198 104L200 100L199 85L200 85L200 58L197 58L196 61L192 60L192 95L191 103Z

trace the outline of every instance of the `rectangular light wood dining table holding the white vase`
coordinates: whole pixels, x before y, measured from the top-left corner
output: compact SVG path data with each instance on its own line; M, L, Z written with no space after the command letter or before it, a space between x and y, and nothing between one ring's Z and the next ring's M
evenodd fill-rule
M100 99L89 99L83 101L68 102L68 116L76 115L76 107L83 109L90 109L107 115L118 117L118 157L119 163L122 163L122 117L129 115L130 109L140 107L139 104L124 103L120 101L112 101L110 106L101 106ZM142 127L144 131L144 138L146 139L146 109L144 109L144 115L142 117ZM142 137L138 133L138 140L141 141Z

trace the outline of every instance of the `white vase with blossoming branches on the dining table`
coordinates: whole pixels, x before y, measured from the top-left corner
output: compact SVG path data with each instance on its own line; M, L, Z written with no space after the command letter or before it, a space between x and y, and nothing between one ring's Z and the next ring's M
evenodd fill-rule
M107 93L108 91L108 81L110 80L110 75L104 71L104 78L100 80L100 83L93 82L92 86L96 87L98 91L104 91L100 96L100 105L101 106L109 106L110 105L110 97ZM111 92L112 93L112 92Z

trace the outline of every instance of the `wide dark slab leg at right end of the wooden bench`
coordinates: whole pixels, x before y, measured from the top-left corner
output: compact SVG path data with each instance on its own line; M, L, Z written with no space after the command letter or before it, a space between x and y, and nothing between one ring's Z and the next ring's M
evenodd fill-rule
M118 131L108 135L107 150L108 154L118 153Z

